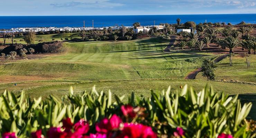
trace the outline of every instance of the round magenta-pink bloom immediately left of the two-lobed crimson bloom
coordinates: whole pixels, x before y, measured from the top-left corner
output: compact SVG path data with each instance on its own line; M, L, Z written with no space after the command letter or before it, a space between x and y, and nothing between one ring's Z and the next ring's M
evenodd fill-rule
M75 125L74 125L74 130L76 134L81 134L84 135L89 131L90 127L89 124L83 120L80 119Z

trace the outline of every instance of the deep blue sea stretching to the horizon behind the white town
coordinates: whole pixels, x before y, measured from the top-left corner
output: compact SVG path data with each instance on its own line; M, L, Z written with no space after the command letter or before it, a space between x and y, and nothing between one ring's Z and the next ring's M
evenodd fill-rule
M106 26L132 26L134 22L140 22L142 26L159 23L176 23L180 18L181 22L230 22L238 24L241 21L255 23L256 14L190 14L190 15L127 15L127 16L0 16L0 29L18 27L86 27Z

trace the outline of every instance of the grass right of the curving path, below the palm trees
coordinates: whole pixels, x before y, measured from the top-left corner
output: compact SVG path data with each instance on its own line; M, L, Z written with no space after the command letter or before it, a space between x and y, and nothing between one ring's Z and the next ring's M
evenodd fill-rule
M217 64L218 66L215 71L217 79L256 82L256 55L250 55L250 63L251 67L247 68L245 57L235 55L233 58L233 66L230 66L229 58L227 57ZM196 79L206 78L203 78L202 73L199 73Z

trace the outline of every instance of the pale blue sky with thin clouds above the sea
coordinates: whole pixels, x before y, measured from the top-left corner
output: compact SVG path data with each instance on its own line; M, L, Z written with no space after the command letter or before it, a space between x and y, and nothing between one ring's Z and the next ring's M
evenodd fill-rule
M4 0L0 16L256 13L256 0Z

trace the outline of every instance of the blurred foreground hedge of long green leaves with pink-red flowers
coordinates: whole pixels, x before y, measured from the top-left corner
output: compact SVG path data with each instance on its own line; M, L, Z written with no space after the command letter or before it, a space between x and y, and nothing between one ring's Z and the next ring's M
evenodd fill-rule
M241 106L235 97L205 87L195 92L187 85L180 92L171 87L160 95L124 97L95 88L61 101L53 96L30 100L5 91L0 98L2 137L255 137L245 118L252 103ZM136 99L136 100L135 100ZM232 135L232 136L231 136Z

